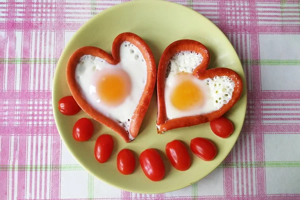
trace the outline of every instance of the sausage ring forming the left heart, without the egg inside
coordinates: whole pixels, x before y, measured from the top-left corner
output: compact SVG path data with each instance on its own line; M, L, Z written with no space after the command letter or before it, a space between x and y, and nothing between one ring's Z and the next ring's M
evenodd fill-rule
M125 44L123 42L125 42ZM141 97L139 98L139 101L136 102L137 106L132 114L131 119L129 120L128 118L129 122L128 122L127 129L124 126L120 125L120 121L111 118L106 113L102 113L96 110L95 107L90 105L87 102L87 100L83 97L82 91L80 91L80 87L76 82L76 77L75 77L76 66L83 55L91 55L91 56L95 56L95 58L99 57L101 58L102 62L106 61L108 64L116 65L117 67L118 66L117 64L121 62L121 56L120 56L121 44L124 46L132 45L132 48L137 47L142 57L140 57L141 55L136 54L135 56L137 57L135 57L135 59L140 59L142 62L146 63L146 75L145 75L146 80L144 80L144 83L141 83L141 84L145 84L145 86L143 88L143 91L142 89L140 91ZM132 54L132 56L134 56L134 54ZM93 59L95 58L93 57ZM130 59L132 59L132 57ZM76 100L76 102L84 112L86 112L93 119L99 121L100 123L106 125L107 127L117 132L126 142L129 142L130 140L134 139L137 136L141 122L150 103L150 99L153 93L155 80L156 80L156 66L155 66L153 54L149 46L146 44L146 42L134 33L124 32L115 37L111 47L111 55L105 52L104 50L94 46L83 46L78 48L76 51L74 51L72 55L69 57L67 62L66 80L74 99ZM134 84L130 86L134 87ZM117 111L121 112L123 110L117 110Z

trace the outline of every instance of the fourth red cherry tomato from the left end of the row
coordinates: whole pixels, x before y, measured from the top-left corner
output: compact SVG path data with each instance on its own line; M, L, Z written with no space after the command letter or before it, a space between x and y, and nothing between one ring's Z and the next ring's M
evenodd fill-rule
M135 158L131 150L124 148L118 152L116 157L117 170L124 174L130 174L135 168Z

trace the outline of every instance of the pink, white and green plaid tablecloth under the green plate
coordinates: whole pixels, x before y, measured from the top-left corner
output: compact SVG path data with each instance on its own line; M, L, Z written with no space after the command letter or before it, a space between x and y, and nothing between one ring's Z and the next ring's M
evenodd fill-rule
M248 106L227 158L199 182L161 194L91 176L55 127L53 72L72 34L122 0L0 0L0 199L300 199L300 2L173 1L215 23L242 62Z

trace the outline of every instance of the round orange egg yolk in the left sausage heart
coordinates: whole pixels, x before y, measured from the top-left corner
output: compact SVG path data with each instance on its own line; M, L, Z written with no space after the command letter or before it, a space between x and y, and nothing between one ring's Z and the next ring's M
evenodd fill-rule
M96 85L96 93L108 105L122 103L130 92L130 78L126 72L102 76Z

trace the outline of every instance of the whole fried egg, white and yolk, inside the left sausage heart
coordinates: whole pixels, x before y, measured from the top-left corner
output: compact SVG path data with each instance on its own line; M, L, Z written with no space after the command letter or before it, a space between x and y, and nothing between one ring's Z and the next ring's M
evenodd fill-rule
M130 42L122 42L119 53L116 65L97 56L81 56L75 78L87 103L128 132L147 81L147 67L141 51Z

